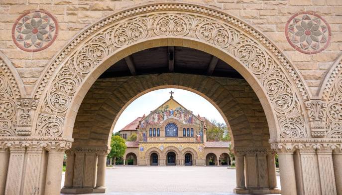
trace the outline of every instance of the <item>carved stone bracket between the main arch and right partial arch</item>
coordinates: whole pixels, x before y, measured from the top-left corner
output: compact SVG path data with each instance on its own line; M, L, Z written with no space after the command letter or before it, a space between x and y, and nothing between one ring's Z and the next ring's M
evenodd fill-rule
M326 135L327 103L321 100L305 102L311 127L311 136L322 138Z

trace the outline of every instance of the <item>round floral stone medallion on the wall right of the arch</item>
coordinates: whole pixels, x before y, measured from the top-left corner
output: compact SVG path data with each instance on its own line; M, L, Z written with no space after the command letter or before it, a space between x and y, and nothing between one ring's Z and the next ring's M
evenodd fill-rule
M294 14L286 23L287 41L297 51L315 54L326 49L331 39L328 22L320 15L305 11Z

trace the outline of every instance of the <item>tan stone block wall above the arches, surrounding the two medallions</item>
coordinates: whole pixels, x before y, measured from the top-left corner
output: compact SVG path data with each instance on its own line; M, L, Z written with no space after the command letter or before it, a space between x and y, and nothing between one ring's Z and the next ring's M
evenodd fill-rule
M33 93L38 79L51 58L71 38L100 18L122 8L139 5L148 0L1 0L0 51L13 63L22 79L26 92ZM340 0L188 0L220 8L224 12L244 19L276 43L300 70L313 95L316 95L327 70L342 49L342 1ZM12 40L12 27L16 19L28 10L45 9L58 21L56 40L46 49L27 52ZM286 22L301 11L312 11L322 16L331 28L331 43L322 52L304 54L296 51L285 36Z

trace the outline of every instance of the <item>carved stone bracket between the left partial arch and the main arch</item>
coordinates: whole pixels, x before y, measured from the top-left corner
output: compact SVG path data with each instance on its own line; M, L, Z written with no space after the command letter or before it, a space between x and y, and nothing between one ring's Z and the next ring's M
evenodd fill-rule
M19 99L16 105L16 135L31 135L33 113L37 108L38 101L35 99Z

